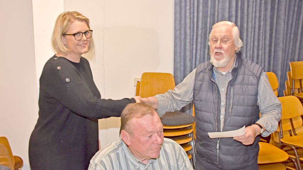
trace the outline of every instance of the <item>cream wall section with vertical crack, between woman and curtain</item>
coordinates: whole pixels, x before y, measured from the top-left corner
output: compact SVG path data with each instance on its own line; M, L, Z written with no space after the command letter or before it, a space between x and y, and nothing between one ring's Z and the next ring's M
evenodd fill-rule
M95 55L89 55L102 98L133 97L143 72L173 73L174 1L65 0L64 10L90 19ZM101 146L119 139L120 118L99 120Z

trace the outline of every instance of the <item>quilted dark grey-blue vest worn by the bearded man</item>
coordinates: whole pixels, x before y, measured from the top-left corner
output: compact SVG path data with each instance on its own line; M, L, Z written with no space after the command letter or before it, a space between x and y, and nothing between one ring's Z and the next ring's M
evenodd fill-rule
M264 69L237 55L232 79L227 85L226 109L223 131L250 126L259 119L257 106L258 84ZM213 65L207 61L196 69L194 106L196 117L195 141L199 157L207 158L223 169L241 169L257 164L259 140L251 145L229 138L209 138L207 132L220 132L219 87L213 77ZM199 160L197 160L199 164Z

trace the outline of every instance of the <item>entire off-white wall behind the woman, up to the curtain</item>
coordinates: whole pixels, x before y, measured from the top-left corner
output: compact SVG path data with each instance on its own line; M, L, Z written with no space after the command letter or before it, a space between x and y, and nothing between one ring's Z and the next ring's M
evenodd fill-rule
M54 54L50 38L61 12L76 10L91 21L96 50L84 57L102 98L133 97L133 78L143 72L173 73L173 0L6 3L0 7L5 16L1 17L1 77L6 82L1 83L0 136L9 137L13 153L25 162L23 170L29 169L28 140L38 118L39 77ZM99 126L102 146L119 138L120 118L102 119Z

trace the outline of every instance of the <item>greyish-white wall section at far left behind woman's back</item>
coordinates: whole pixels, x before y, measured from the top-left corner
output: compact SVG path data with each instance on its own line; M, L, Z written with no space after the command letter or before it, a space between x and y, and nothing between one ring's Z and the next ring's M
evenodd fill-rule
M31 0L0 6L0 136L29 169L28 141L38 117Z

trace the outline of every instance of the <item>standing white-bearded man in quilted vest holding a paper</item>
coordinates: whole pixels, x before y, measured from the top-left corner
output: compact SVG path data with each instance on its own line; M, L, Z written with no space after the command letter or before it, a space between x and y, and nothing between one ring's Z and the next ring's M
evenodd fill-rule
M141 102L151 104L162 116L194 101L195 169L257 170L260 136L276 131L281 103L264 69L238 53L243 42L233 22L215 23L208 45L210 61L201 63L173 90ZM241 136L210 138L207 134L244 125Z

